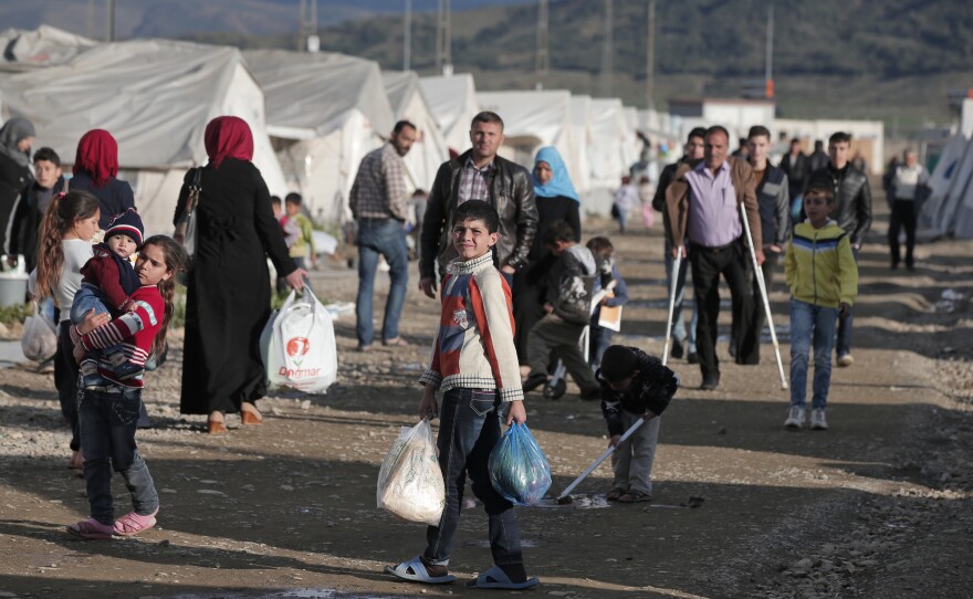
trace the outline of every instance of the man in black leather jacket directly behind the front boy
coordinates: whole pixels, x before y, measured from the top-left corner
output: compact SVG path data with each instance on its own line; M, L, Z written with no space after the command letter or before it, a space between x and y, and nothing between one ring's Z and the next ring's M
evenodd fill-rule
M496 156L503 144L503 120L491 112L473 117L473 147L443 162L436 174L422 219L419 252L419 288L436 297L436 264L440 279L456 255L450 243L452 213L467 200L485 200L500 213L500 241L495 252L500 270L510 283L513 273L527 263L537 233L534 183L524 167Z

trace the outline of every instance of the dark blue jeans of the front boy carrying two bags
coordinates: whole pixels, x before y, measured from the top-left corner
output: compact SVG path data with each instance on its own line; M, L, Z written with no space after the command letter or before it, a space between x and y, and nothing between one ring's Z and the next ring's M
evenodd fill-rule
M493 488L486 462L500 441L500 395L493 390L450 389L439 408L439 467L446 482L446 509L439 526L426 529L423 561L449 564L460 522L467 474L473 494L483 502L490 527L490 550L498 566L523 566L513 504Z

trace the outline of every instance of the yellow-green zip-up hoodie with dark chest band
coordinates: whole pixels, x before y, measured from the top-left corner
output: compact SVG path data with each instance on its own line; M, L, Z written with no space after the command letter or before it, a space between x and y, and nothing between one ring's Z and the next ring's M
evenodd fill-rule
M791 295L801 302L838 307L858 296L858 266L848 233L828 220L820 229L798 223L784 254L784 274Z

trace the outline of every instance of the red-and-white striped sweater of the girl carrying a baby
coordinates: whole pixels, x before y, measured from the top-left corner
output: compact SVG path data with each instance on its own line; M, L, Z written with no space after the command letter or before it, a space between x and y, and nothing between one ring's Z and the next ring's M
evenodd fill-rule
M88 351L121 344L122 351L129 362L145 367L153 341L163 328L166 305L156 285L145 285L137 288L132 294L132 301L136 305L134 311L124 313L86 335L79 335L77 327L72 326L71 339L75 344L82 344ZM107 361L104 356L98 358L98 374L115 386L144 387L142 382L144 370L132 378L119 380L114 372L112 362Z

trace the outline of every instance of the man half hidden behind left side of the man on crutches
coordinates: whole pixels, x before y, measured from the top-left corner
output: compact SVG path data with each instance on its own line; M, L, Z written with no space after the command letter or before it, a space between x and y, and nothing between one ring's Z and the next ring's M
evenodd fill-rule
M666 168L663 168L662 172L659 175L659 185L656 187L656 196L652 198L652 208L659 212L665 212L666 190L676 179L676 170L682 165L695 166L703 159L705 136L707 130L702 127L695 127L689 132L689 136L686 139L686 146L683 147L682 158L671 165L666 165ZM666 225L669 221L662 219L662 223ZM672 293L672 271L676 270L676 259L672 258L672 246L669 244L668 231L665 239L666 291ZM690 320L689 328L686 327L686 322L682 319L682 303L686 298L686 273L688 271L689 261L683 260L679 263L679 272L676 273L676 300L672 303L671 355L673 358L678 359L682 357L683 351L688 350L689 355L687 356L687 361L689 361L689 364L698 364L699 357L695 353L695 325L699 317L695 309L695 302L692 304L692 319Z

